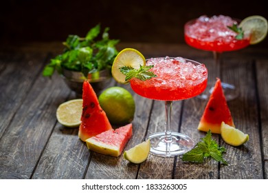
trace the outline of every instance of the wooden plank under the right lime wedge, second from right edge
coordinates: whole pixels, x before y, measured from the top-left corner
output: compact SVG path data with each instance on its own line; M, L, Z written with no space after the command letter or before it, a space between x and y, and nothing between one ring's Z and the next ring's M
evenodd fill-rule
M221 179L263 179L254 76L250 60L224 60L223 81L236 83L240 93L228 105L236 128L249 134L249 141L239 147L221 142L227 149L225 159L229 163L220 167Z

